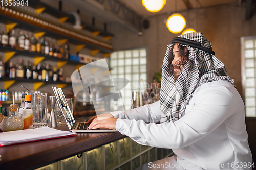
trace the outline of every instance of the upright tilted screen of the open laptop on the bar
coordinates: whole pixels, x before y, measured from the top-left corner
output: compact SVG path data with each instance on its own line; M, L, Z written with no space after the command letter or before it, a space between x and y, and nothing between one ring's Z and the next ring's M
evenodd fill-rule
M65 117L67 125L68 125L69 129L71 130L72 126L75 123L75 119L74 119L72 112L69 108L69 105L65 98L65 95L61 88L52 87L52 89L56 96L56 100L58 101L58 104L60 106L61 112L62 112L63 116Z

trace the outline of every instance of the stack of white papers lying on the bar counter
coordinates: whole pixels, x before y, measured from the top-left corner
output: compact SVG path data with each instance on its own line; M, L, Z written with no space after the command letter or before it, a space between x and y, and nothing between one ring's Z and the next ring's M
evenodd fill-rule
M76 135L76 132L61 131L49 128L47 126L36 129L2 132L0 133L0 147L4 145L24 143L42 139L51 139L56 137L65 137L70 135Z

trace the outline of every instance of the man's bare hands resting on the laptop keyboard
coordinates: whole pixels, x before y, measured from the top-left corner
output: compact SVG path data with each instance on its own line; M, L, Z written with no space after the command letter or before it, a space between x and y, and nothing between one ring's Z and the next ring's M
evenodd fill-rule
M116 121L117 118L114 118L111 114L101 114L98 116L93 116L87 121L89 125L89 129L97 129L97 128L108 128L108 129L116 129Z

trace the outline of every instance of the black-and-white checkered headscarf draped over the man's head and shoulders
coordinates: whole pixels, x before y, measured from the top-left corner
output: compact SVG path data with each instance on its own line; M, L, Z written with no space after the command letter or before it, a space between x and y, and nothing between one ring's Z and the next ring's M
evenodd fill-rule
M179 37L200 42L202 47L212 50L210 41L202 33L188 33ZM188 48L189 59L193 61L193 68L188 71L189 65L185 64L175 82L174 76L168 74L168 58L172 53L171 48L174 44L167 46L162 67L160 109L163 114L161 123L179 120L185 114L188 100L201 84L226 80L234 85L234 80L227 76L225 65L218 58L204 50L184 44L181 45Z

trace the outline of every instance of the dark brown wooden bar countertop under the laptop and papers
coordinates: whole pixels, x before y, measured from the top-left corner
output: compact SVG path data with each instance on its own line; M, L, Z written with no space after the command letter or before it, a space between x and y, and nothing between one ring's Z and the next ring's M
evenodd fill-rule
M57 129L68 130L67 126ZM35 169L124 138L119 132L77 136L0 147L0 169Z

